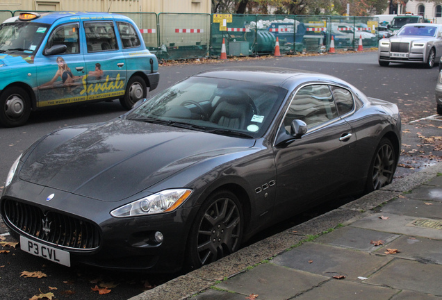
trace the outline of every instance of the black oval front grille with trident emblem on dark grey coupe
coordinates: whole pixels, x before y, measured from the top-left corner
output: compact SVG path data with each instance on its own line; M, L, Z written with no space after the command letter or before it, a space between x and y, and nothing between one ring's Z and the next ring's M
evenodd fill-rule
M19 231L58 246L72 249L96 249L100 231L95 224L37 206L5 199L4 215Z

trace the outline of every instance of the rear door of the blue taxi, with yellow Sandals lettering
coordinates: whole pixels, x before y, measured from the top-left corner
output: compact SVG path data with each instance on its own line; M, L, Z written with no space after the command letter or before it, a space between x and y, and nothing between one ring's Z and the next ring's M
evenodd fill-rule
M113 21L83 22L88 100L124 95L126 60L117 42Z

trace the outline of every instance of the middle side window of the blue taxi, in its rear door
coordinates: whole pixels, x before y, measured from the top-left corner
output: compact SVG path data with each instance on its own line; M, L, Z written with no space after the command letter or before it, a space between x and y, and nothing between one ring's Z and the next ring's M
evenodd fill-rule
M84 30L88 52L118 49L113 22L85 22Z

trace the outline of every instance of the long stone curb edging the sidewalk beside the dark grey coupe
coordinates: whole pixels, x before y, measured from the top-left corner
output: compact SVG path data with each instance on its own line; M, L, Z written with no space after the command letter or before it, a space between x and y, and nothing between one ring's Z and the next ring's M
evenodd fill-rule
M272 235L270 238L256 242L231 254L221 260L203 266L186 275L174 278L163 285L142 292L129 300L183 300L204 292L217 281L230 278L247 267L261 263L263 260L277 256L306 238L306 235L319 235L335 228L339 224L350 224L361 219L369 210L382 203L395 199L403 192L413 190L442 173L442 163L433 165L404 178L401 178L381 190L356 199L329 213L320 215L307 222L289 228L286 231Z

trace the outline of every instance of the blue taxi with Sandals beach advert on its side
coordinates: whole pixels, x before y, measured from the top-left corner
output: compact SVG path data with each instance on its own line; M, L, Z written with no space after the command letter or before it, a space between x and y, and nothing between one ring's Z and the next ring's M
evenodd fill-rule
M105 12L24 12L0 24L0 124L31 111L120 99L126 109L159 81L136 24Z

